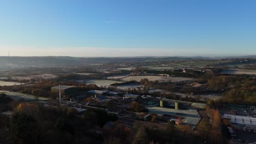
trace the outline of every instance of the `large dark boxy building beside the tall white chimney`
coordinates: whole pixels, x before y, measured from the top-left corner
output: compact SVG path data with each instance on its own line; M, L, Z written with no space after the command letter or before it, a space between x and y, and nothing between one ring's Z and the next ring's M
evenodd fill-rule
M59 93L61 89L62 95L69 95L71 97L79 95L79 88L74 86L56 86L51 88L51 92Z

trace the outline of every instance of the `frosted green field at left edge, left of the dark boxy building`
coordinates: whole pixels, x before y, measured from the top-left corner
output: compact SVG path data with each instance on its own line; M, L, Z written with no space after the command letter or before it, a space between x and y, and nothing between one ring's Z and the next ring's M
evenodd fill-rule
M9 92L9 91L0 91L0 93L5 93L9 97L15 100L20 100L20 99L24 99L26 101L37 100L34 95L30 95L30 94L16 93L16 92ZM48 100L48 98L38 97L38 100Z

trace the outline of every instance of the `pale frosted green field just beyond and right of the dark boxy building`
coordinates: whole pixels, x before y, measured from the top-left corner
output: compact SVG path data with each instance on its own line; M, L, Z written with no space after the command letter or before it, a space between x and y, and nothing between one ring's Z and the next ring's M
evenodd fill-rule
M86 84L95 84L98 87L109 87L114 83L122 83L123 81L112 81L112 80L103 80L103 79L85 79L79 80L77 82L84 82Z

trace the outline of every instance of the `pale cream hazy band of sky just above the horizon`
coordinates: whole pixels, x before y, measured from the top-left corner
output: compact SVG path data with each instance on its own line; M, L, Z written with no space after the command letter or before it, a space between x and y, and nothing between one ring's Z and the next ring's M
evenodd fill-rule
M173 52L174 51L174 52ZM173 52L173 53L172 53ZM205 51L200 50L176 50L176 49L112 49L112 48L68 48L68 49L0 49L0 56L70 56L70 57L228 57L228 56L252 56L252 53L230 53L220 54L214 53L203 53Z

